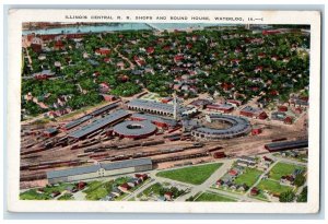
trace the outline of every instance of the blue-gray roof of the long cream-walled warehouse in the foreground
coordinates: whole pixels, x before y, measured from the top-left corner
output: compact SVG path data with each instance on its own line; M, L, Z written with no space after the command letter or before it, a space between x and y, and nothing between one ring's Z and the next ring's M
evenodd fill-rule
M74 168L68 168L61 170L51 170L51 172L47 172L47 178L52 179L52 178L95 173L99 170L99 168L104 168L105 170L112 170L112 169L128 168L128 167L142 166L142 165L152 165L152 161L150 158L139 158L139 160L128 160L128 161L114 162L114 163L101 163L97 165L74 167Z

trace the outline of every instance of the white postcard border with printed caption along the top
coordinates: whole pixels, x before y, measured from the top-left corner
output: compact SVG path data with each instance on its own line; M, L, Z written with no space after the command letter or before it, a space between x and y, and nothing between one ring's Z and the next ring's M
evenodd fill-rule
M20 193L20 117L21 117L21 36L22 22L68 22L65 15L209 15L211 17L257 17L255 24L309 24L311 78L308 127L308 201L306 203L260 202L104 202L104 201L22 201ZM79 20L70 22L108 22ZM136 21L112 21L136 22ZM144 23L149 21L137 21ZM156 21L152 23L174 23ZM175 23L200 21L175 21ZM201 21L201 23L215 21ZM218 22L218 21L216 21ZM219 23L239 23L220 21ZM244 22L243 22L244 23ZM251 22L249 22L251 24ZM11 10L8 37L8 209L12 212L156 212L156 213L315 213L319 209L319 141L320 141L320 14L317 11L207 11L207 10Z

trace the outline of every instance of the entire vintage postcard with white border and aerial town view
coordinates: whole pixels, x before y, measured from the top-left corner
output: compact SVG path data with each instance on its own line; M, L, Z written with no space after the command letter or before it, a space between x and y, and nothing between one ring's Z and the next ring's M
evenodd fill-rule
M10 10L12 212L316 213L317 11Z

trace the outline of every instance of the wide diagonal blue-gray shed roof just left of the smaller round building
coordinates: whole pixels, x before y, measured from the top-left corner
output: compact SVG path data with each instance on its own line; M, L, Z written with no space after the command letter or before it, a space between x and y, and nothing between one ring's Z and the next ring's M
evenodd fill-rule
M127 117L130 113L124 109L116 110L112 113L110 115L107 115L106 117L103 117L98 120L95 120L94 122L82 127L81 129L72 132L69 134L69 137L80 139L82 137L85 137L101 128L104 128L107 125L110 125L114 121L117 121L118 119L121 119L124 117Z

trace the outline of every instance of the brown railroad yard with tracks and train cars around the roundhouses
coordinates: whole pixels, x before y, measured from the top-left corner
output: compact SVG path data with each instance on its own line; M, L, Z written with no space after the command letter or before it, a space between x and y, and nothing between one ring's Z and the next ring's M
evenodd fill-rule
M288 135L289 140L296 140L306 135L306 132L295 130L294 126L262 123L265 131L260 135L247 134L227 140L196 140L188 132L184 132L183 127L172 129L159 128L157 132L151 137L128 139L112 133L113 126L121 121L118 120L84 139L69 138L71 133L81 129L81 127L85 127L94 120L120 108L124 108L122 102L115 102L87 115L82 115L80 118L62 120L60 127L57 123L54 123L55 126L52 123L22 126L21 187L35 187L46 182L40 180L45 180L46 172L52 169L84 166L96 162L115 162L141 157L151 158L155 168L164 169L174 166L213 162L219 160L215 158L218 152L222 153L224 157L266 153L268 151L263 145L274 139ZM129 110L129 113L132 115L136 111ZM85 117L90 119L83 120ZM129 120L129 117L126 119ZM258 126L260 121L254 120L253 122ZM67 127L70 127L72 123L78 125L67 130ZM54 137L45 135L45 132L51 128L58 129L58 134Z

